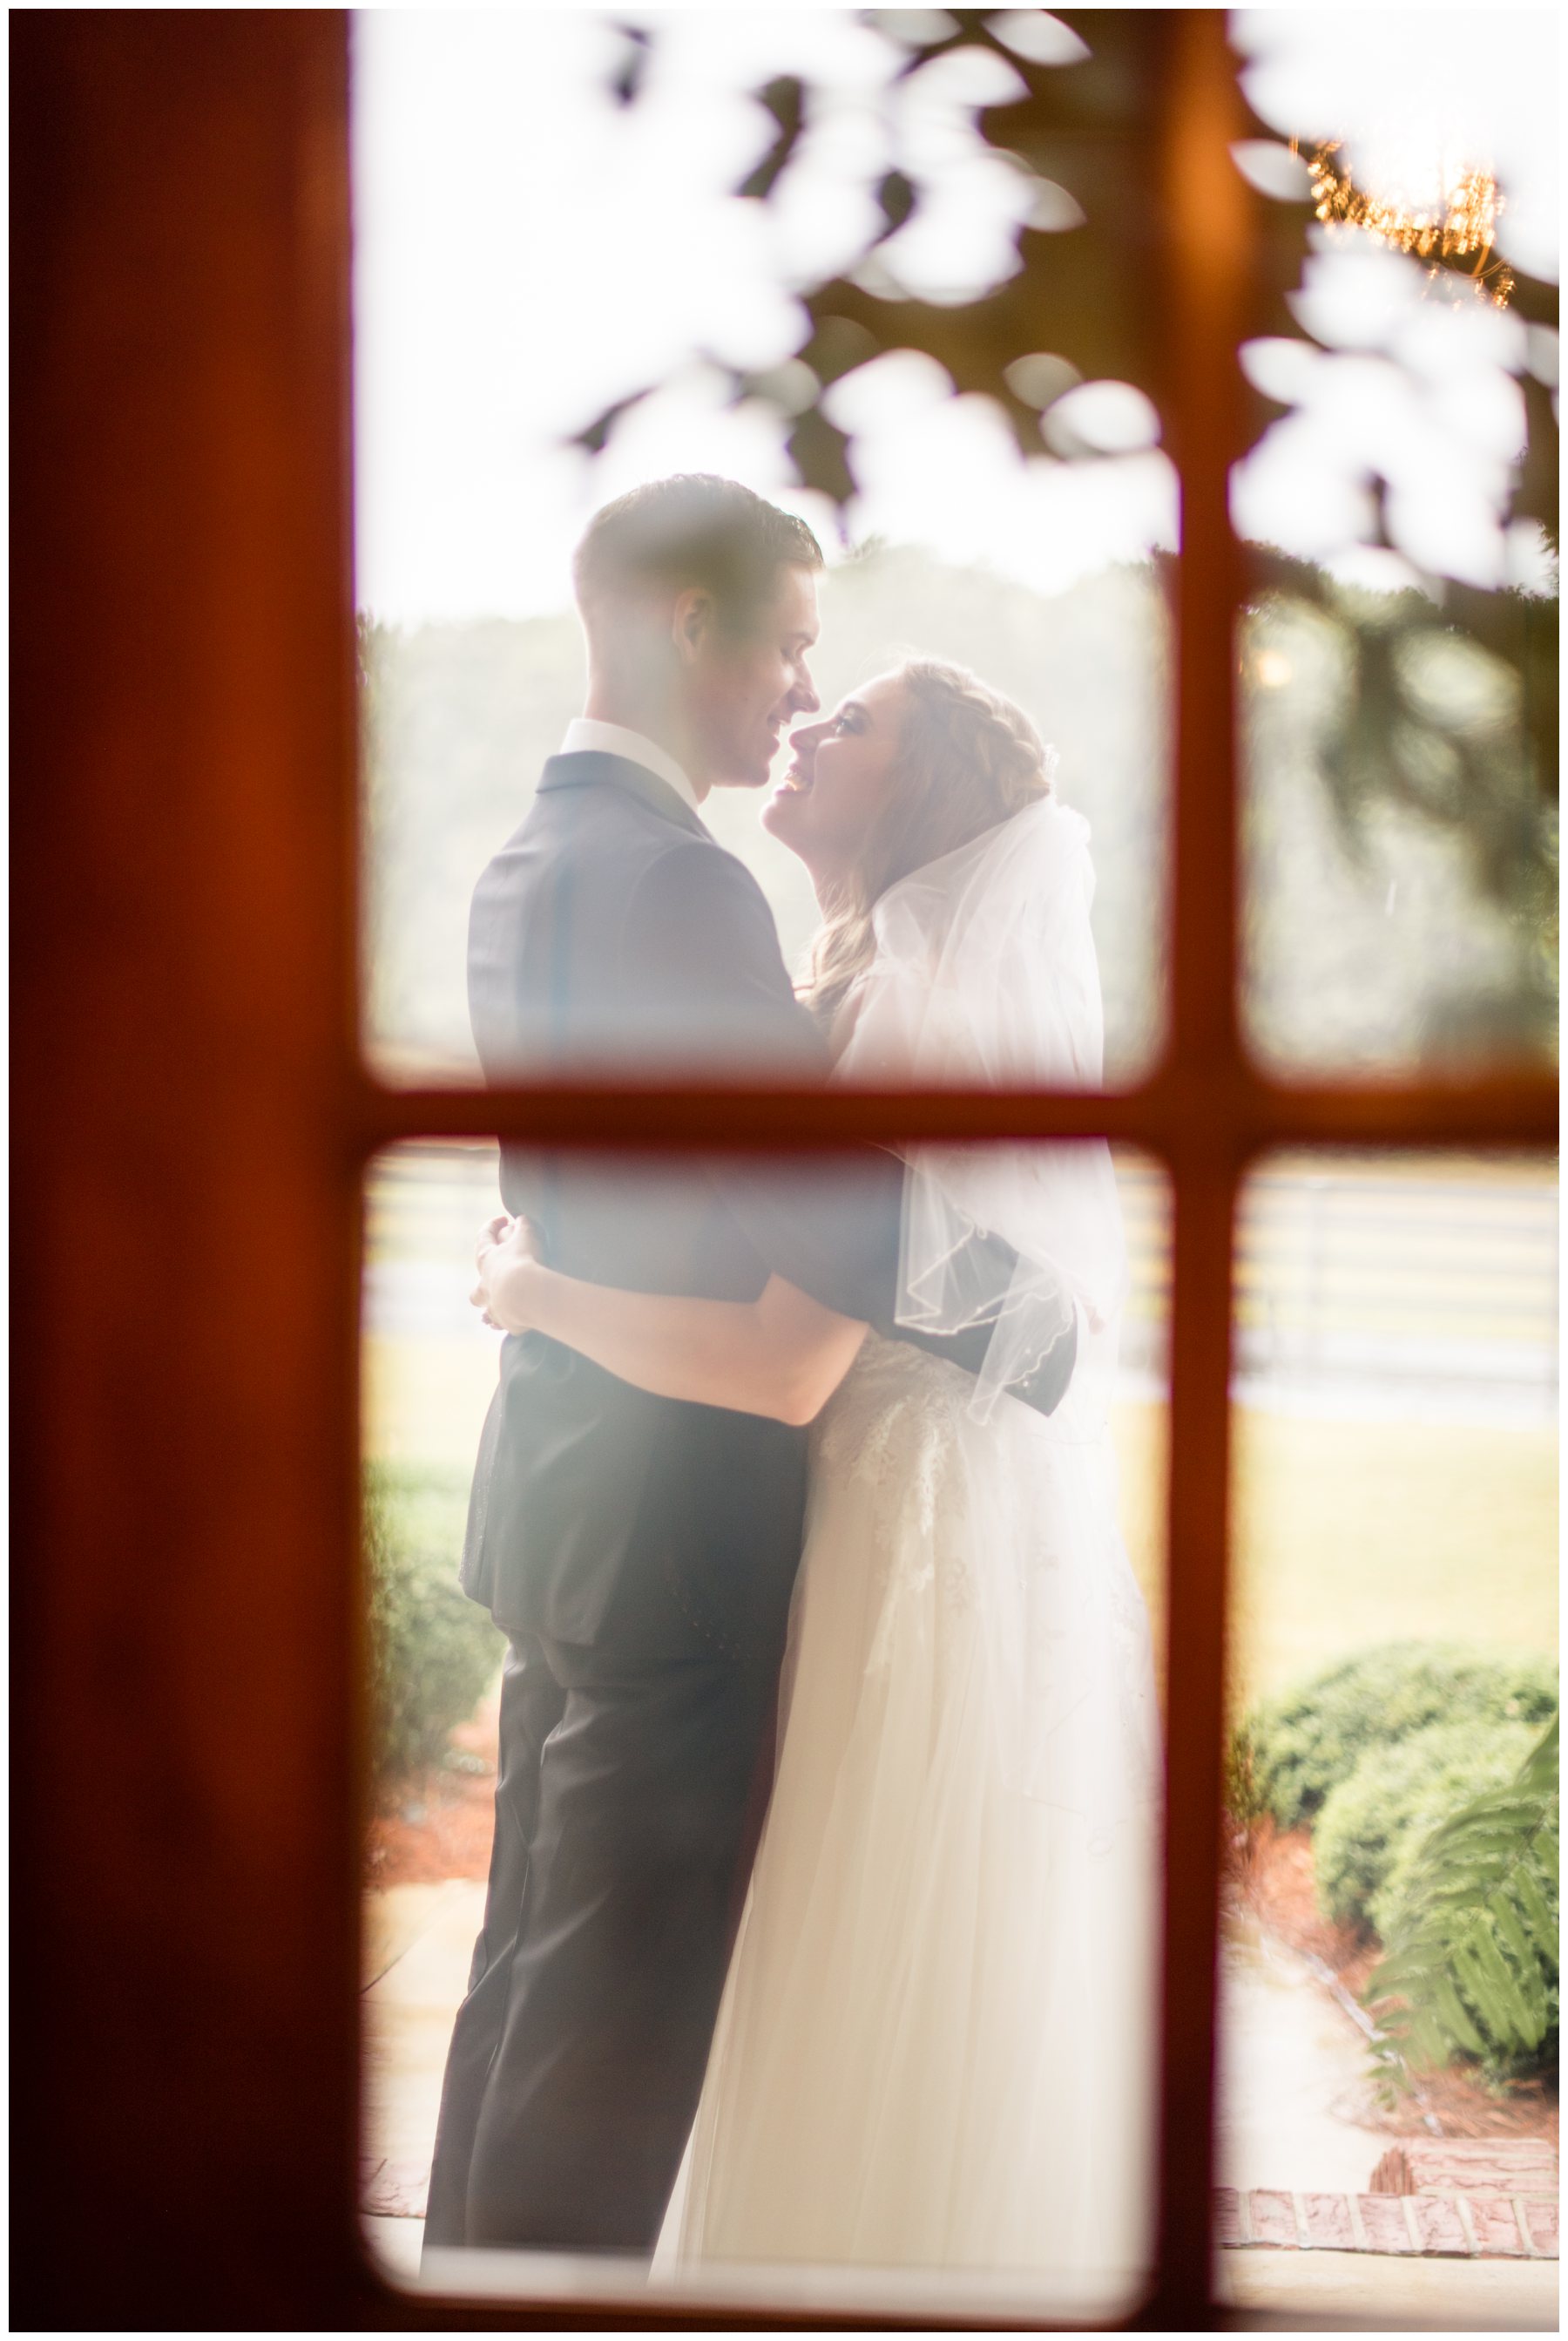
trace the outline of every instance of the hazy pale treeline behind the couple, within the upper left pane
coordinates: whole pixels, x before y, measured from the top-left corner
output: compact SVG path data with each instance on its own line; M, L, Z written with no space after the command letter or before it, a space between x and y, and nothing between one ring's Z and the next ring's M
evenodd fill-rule
M1123 1084L1147 1065L1163 1016L1165 606L1154 576L1119 569L1046 599L887 548L831 567L817 602L812 681L826 709L920 644L983 677L1046 742L1053 794L1088 822L1105 1079ZM470 899L583 705L580 632L566 616L412 632L367 623L363 663L374 1056L393 1077L473 1079ZM758 819L756 794L714 789L700 819L756 878L782 964L803 981L824 920L810 871ZM754 1042L742 1070L789 1070L777 1037ZM648 1016L641 1030L604 1032L585 1060L651 1077L690 1070L709 1049L700 1018Z

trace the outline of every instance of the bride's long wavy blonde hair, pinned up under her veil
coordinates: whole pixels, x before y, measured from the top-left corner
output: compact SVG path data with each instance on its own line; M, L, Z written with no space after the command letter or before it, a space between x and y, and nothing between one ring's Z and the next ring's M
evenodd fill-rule
M908 658L896 677L908 712L894 787L859 869L826 913L800 983L821 1023L833 1021L875 957L871 913L887 887L1051 794L1055 758L1002 691L941 658Z

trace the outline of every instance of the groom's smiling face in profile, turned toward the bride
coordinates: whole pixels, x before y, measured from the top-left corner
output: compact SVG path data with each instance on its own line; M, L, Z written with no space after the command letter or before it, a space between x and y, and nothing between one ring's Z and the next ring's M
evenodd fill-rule
M709 595L681 597L679 623L693 773L709 789L765 789L786 726L821 705L812 686L817 583L784 562L768 602L744 618Z

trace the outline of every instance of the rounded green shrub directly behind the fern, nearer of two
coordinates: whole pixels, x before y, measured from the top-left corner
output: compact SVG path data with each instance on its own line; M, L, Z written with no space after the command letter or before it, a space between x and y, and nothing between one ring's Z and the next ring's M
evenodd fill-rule
M1528 1723L1467 1721L1369 1746L1313 1826L1318 1901L1329 1917L1381 1934L1385 1896L1423 1840L1472 1796L1512 1779L1535 1737Z

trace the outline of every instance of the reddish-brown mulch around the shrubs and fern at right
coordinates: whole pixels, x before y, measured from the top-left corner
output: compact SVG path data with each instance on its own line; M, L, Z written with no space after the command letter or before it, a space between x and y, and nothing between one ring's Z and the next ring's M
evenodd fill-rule
M1306 1828L1275 1831L1271 1819L1229 1845L1229 1892L1236 1908L1290 1950L1322 1959L1334 1980L1360 1999L1378 1964L1378 1945L1339 1927L1318 1908L1313 1838ZM1556 2093L1540 2081L1488 2088L1463 2069L1421 2076L1421 2100L1378 2105L1371 2083L1355 2119L1395 2137L1432 2135L1432 2114L1444 2137L1545 2137L1556 2147Z

